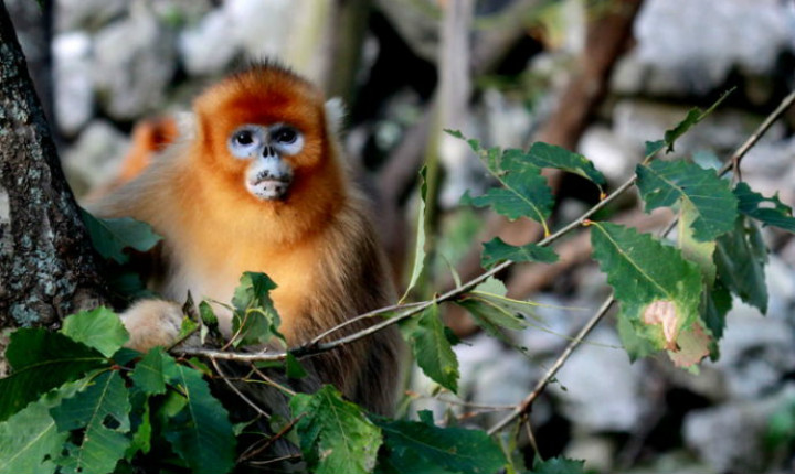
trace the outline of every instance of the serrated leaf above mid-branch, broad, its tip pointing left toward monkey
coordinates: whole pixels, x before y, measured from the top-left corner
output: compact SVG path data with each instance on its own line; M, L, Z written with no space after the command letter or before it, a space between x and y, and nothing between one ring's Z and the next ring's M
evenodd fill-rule
M471 197L467 191L462 204L476 207L490 206L510 220L528 217L545 225L552 212L552 191L541 169L527 165L521 170L511 170L499 177L505 187L492 187L486 194Z

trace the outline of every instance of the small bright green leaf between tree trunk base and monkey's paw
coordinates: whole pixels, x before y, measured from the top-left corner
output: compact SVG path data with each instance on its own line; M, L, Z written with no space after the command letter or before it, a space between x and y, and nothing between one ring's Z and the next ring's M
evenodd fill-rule
M61 333L94 347L105 357L113 356L129 340L118 315L103 306L67 316Z

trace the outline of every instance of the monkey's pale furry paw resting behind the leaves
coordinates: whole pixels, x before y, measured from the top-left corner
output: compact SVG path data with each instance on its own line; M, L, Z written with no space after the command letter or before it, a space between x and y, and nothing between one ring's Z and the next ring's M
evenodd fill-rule
M182 326L182 309L165 300L141 300L120 315L130 335L125 344L138 352L155 346L169 347L177 342Z

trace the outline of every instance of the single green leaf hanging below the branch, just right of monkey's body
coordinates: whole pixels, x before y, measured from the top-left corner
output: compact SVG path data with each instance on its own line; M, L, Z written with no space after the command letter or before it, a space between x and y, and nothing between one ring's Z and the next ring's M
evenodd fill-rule
M448 390L458 390L458 358L445 335L439 306L434 303L404 326L404 336L412 346L423 373Z

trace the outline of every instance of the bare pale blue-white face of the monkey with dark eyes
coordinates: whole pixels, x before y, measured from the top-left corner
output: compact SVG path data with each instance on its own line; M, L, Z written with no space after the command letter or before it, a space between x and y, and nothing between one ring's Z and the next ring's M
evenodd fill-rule
M235 158L251 161L246 190L261 200L280 200L293 183L289 159L304 149L304 133L287 123L245 123L232 132L227 147Z

